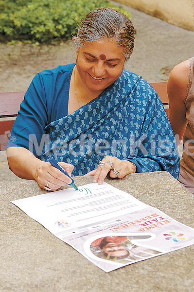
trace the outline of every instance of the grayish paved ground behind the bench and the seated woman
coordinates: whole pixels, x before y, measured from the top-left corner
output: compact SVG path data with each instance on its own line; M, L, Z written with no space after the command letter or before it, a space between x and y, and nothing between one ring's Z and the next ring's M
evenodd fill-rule
M123 5L136 29L135 48L125 68L149 82L167 80L172 68L193 56L194 32ZM35 73L75 60L69 43L59 46L0 45L0 91L26 90ZM0 152L0 181L19 180Z

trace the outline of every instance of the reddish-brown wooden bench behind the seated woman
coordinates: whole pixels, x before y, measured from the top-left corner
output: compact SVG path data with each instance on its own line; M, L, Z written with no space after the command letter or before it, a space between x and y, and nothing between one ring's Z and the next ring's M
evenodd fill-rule
M150 84L158 92L168 114L167 82L152 82ZM25 92L0 92L0 150L5 150Z

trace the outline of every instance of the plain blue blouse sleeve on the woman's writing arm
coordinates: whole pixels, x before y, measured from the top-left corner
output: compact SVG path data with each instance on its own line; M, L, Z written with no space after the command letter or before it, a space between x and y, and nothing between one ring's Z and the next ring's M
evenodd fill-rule
M62 66L35 75L20 105L7 147L24 147L40 156L48 139L44 128L67 115L70 78L70 70L64 71Z

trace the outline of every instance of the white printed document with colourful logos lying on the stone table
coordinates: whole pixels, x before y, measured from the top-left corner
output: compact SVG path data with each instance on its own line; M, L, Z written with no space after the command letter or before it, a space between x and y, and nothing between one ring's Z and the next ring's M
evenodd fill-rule
M12 203L105 272L194 244L193 228L108 183Z

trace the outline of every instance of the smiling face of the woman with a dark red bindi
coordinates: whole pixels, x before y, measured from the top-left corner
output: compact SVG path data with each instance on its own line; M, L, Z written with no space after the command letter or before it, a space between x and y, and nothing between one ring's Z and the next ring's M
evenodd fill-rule
M123 48L114 41L85 43L77 52L79 82L100 94L121 75L124 61Z

